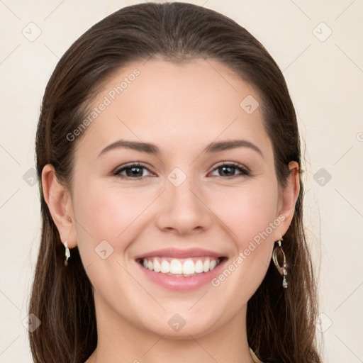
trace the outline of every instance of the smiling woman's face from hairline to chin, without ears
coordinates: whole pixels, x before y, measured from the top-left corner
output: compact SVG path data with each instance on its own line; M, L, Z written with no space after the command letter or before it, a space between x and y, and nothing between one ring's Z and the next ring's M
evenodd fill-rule
M135 62L104 84L74 155L70 234L111 330L199 337L245 311L286 231L256 102L212 60Z

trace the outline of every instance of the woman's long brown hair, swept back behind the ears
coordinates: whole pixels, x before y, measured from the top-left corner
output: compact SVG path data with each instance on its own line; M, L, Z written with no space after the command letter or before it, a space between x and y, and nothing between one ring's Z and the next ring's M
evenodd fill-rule
M112 13L86 31L62 56L45 89L36 136L42 237L29 313L41 325L30 333L35 363L84 363L97 345L91 282L77 247L65 267L65 249L43 196L45 164L70 186L77 140L72 133L84 120L99 86L120 67L157 55L180 63L195 57L214 59L254 86L262 101L264 127L274 147L281 186L287 165L301 150L296 114L284 77L269 52L245 28L201 6L145 3ZM242 100L241 100L242 101ZM303 228L303 181L284 252L289 287L283 289L273 262L247 305L248 343L271 363L318 363L315 318L318 311L311 255Z

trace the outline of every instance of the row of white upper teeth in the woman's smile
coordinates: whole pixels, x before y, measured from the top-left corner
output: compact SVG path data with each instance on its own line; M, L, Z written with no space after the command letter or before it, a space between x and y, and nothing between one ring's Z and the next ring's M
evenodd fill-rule
M162 274L191 276L212 271L220 263L220 259L210 259L209 257L206 257L204 262L202 259L197 259L194 262L191 258L183 259L183 261L176 258L172 259L171 262L162 257L154 257L153 259L145 258L143 259L143 267L154 272L161 272Z

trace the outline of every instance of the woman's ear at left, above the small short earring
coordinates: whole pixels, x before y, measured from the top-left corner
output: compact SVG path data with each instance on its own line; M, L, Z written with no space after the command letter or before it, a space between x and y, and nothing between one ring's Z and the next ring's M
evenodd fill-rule
M69 189L60 184L51 164L46 164L42 171L42 185L45 202L52 219L60 233L62 243L69 248L77 245L72 199Z

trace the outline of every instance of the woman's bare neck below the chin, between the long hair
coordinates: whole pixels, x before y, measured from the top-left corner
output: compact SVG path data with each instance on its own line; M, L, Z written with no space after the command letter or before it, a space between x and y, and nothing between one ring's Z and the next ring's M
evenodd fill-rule
M96 304L98 342L86 363L253 363L247 343L246 309L204 335L157 335Z

